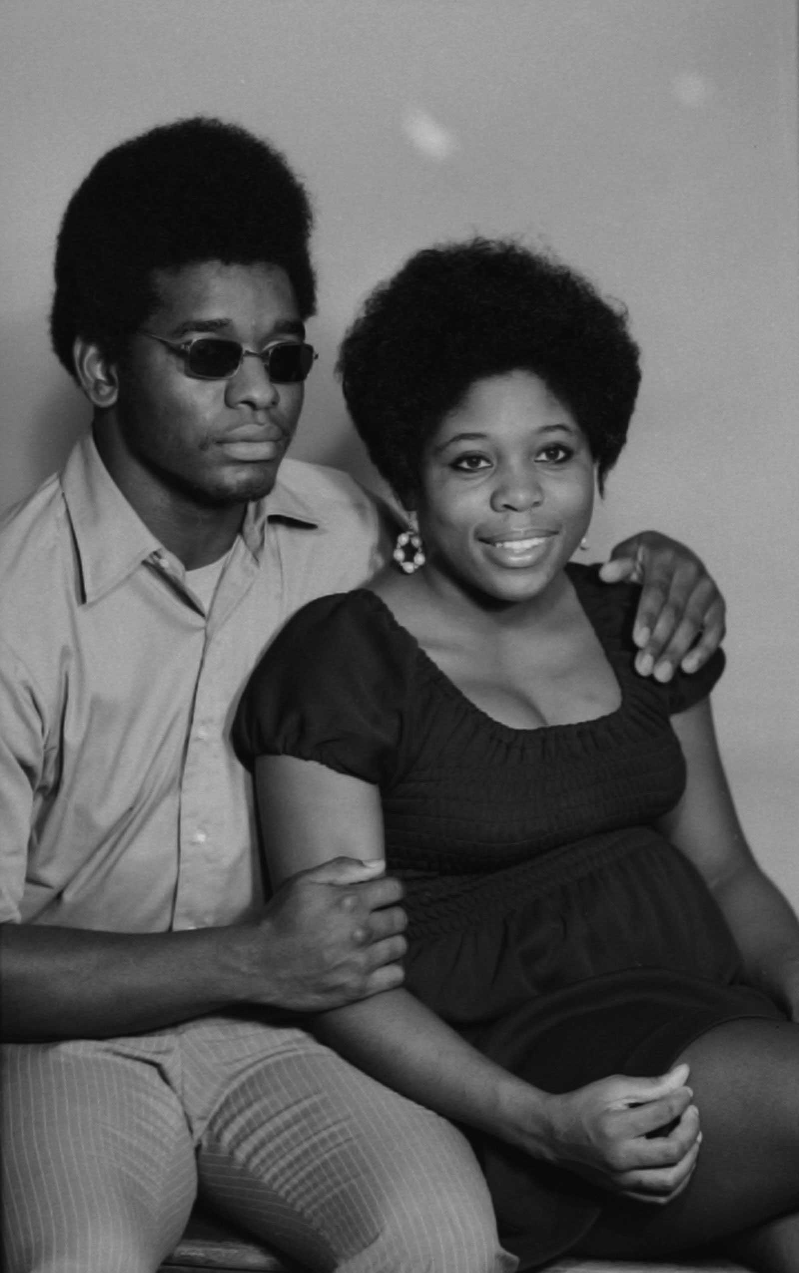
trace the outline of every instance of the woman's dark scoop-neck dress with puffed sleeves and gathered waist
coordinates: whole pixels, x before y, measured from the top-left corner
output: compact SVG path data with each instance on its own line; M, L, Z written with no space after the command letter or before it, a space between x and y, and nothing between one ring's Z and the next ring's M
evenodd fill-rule
M234 724L245 763L288 754L378 784L387 868L407 887L408 989L551 1092L660 1074L714 1025L781 1016L743 984L710 891L654 826L686 779L669 715L710 693L724 658L665 686L638 676L638 589L567 569L622 693L608 715L493 721L358 589L287 624ZM468 1134L522 1268L591 1228L609 1195Z

